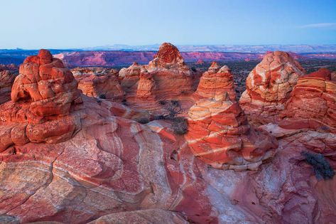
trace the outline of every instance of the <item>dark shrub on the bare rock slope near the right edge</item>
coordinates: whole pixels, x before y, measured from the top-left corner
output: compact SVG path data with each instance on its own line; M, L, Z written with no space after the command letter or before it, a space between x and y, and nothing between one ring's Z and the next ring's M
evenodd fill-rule
M335 171L323 154L315 154L308 151L303 151L302 154L305 156L305 161L313 166L315 176L318 180L322 178L325 180L331 179L335 175Z

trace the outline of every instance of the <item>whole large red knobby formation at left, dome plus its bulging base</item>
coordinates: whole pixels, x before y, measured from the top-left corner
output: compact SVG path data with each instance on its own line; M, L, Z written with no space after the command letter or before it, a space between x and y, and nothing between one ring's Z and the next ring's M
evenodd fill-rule
M13 144L63 142L80 127L70 107L80 104L77 81L48 50L26 58L0 108L0 151Z

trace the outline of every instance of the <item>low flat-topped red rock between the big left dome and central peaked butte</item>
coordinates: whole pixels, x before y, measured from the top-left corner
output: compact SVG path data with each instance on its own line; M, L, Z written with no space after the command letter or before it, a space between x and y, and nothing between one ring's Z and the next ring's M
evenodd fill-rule
M89 97L115 99L124 96L116 70L103 68L72 69L78 88Z

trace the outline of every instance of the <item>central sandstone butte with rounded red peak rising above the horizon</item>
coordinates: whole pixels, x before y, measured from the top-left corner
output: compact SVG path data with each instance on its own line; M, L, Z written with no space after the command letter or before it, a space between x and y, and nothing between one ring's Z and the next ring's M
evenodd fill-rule
M193 92L194 76L178 48L171 43L163 43L148 65L133 63L119 71L127 105L157 114L167 113L160 101Z

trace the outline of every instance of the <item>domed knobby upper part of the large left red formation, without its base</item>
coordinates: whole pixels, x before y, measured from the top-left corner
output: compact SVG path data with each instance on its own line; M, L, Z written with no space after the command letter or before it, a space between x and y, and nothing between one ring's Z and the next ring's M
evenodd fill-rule
M80 91L77 81L62 61L40 50L20 65L11 90L13 102L31 100L30 112L39 117L68 114Z

